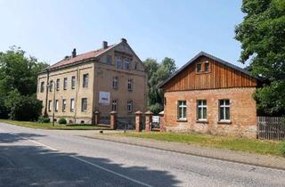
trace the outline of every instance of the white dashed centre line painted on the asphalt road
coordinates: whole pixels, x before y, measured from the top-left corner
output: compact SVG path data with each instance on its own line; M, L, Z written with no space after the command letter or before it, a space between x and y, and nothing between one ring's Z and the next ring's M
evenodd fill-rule
M19 135L19 136L20 136L20 135ZM21 137L22 137L22 136L21 136ZM38 144L38 145L40 145L40 146L42 146L42 147L45 147L45 148L47 148L47 149L49 149L49 150L54 150L54 151L56 150L55 148L53 148L53 147L51 147L51 146L49 146L49 145L46 145L45 143L37 142L37 141L34 141L34 140L29 140L28 138L25 138L25 137L22 137L22 138L25 139L25 140L28 140L29 142L34 142L35 144ZM120 176L120 177L122 177L122 178L125 178L126 180L132 181L132 182L134 182L134 183L138 183L138 184L143 185L143 186L153 187L153 186L151 186L151 185L148 184L148 183L142 183L142 182L140 182L140 181L138 181L138 180L135 180L135 179L133 179L133 178L131 178L131 177L128 177L128 176L126 176L126 175L119 174L119 173L117 173L117 172L115 172L115 171L112 171L112 170L110 170L110 169L108 169L108 168L101 167L101 166L96 165L96 164L94 164L94 163L92 163L92 162L89 162L89 161L87 161L87 160L85 160L85 159L80 159L80 158L78 158L78 157L76 157L76 156L73 156L73 155L69 155L69 157L71 157L71 158L73 158L73 159L77 159L77 160L79 160L79 161L81 161L81 162L84 162L85 164L89 164L89 165L91 165L91 166L93 166L93 167L97 167L97 168L99 168L99 169L102 169L102 170L104 170L104 171L106 171L106 172L109 172L110 174L118 175L118 176Z

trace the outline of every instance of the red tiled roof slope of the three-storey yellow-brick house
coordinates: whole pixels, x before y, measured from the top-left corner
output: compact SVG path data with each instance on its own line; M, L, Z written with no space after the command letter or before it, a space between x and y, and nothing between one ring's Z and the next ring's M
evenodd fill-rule
M57 69L57 68L60 68L62 66L66 66L66 65L70 65L70 64L76 63L78 61L84 61L86 59L97 57L100 54L105 53L108 50L110 50L110 48L112 48L113 46L115 46L115 45L110 45L106 49L98 49L98 50L95 50L95 51L78 54L74 58L69 57L67 59L63 59L63 60L53 64L52 66L49 66L47 69Z

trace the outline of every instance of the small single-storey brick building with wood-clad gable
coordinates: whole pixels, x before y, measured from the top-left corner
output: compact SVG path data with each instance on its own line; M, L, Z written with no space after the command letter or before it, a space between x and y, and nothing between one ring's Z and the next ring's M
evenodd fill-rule
M258 82L245 69L201 52L160 85L164 128L256 137Z

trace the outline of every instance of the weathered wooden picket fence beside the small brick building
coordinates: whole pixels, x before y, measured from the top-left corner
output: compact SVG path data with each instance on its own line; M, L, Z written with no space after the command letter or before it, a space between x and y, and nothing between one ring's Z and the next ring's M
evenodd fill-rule
M257 138L285 140L285 118L257 117Z

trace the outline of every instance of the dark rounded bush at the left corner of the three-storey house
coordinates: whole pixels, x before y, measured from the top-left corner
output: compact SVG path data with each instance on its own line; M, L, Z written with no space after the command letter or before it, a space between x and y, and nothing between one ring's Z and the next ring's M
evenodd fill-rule
M43 105L34 96L22 96L12 99L10 116L15 120L32 121L41 115Z

